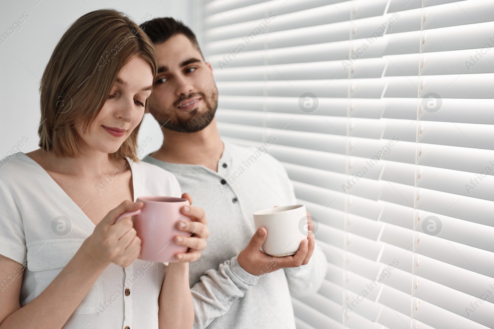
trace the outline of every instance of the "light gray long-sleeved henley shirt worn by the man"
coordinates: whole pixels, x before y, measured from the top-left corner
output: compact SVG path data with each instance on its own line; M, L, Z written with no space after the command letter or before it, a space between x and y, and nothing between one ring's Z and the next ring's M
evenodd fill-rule
M260 276L237 262L255 232L254 212L298 204L285 168L267 153L267 144L259 149L224 143L217 173L203 165L143 159L173 173L182 192L206 212L207 247L189 267L194 329L295 329L290 293L317 292L326 275L327 259L317 244L307 265Z

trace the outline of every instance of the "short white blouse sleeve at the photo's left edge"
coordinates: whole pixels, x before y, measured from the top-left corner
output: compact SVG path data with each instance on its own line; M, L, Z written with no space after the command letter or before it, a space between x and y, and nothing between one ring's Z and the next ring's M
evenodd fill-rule
M0 180L0 255L25 263L27 256L26 237L21 213Z

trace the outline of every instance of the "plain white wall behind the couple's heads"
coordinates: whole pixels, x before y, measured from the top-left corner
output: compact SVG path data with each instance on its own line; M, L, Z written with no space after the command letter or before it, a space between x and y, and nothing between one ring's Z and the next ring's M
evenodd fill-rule
M101 8L116 8L139 22L149 13L153 18L171 16L183 21L194 32L200 29L195 0L30 0L2 1L0 35L7 32L23 13L27 18L6 41L0 44L0 159L20 147L30 152L38 147L40 124L40 78L51 53L65 30L83 14ZM149 16L148 14L148 16ZM18 28L17 28L18 29ZM198 36L200 37L200 36ZM1 41L3 41L2 39ZM139 140L150 136L152 142L141 157L158 149L163 141L158 123L146 114ZM22 144L22 143L21 143Z

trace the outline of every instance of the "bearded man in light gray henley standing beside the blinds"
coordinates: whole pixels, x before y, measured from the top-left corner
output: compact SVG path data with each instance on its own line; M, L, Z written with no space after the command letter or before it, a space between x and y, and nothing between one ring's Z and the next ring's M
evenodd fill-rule
M283 166L264 154L276 136L258 149L223 142L213 70L192 31L172 18L144 25L159 67L148 104L164 142L143 160L172 172L209 219L207 247L190 264L194 328L294 329L290 292L316 292L327 260L313 234L294 256L259 251L267 231L255 230L252 214L298 203Z

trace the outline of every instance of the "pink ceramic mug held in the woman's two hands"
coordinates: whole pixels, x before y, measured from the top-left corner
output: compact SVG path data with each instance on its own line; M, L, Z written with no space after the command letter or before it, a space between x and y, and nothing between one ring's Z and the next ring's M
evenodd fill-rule
M142 202L144 206L120 215L115 222L124 217L133 217L134 228L141 239L138 258L157 262L178 261L174 255L186 253L187 247L175 244L173 237L177 234L188 236L190 233L176 229L175 225L182 219L191 221L190 217L180 212L183 206L190 205L189 201L171 196L140 196L136 202Z

